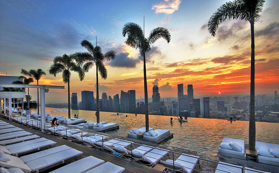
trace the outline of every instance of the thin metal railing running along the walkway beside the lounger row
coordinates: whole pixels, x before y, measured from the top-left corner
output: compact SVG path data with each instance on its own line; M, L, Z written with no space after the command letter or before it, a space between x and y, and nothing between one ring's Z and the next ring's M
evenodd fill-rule
M5 117L7 117L7 118L9 118L9 116L6 116L6 115L3 115L3 114L1 114L2 116L5 116ZM20 122L21 124L24 124L25 123L25 120L26 120L26 118L25 117L12 117L11 118L12 120L14 120L14 121L16 121L16 122ZM31 123L29 123L29 122L31 122ZM33 123L33 122L36 122L36 123ZM27 122L27 120L26 120L26 126L28 126L28 124L30 125L32 125L32 127L34 127L33 126L33 124L34 125L36 125L35 127L36 128L38 128L38 129L40 129L41 128L41 122L40 121L38 121L38 120L33 120L33 119L30 119L30 120L28 120L28 122ZM122 140L122 139L117 139L118 140L118 142L117 143L113 143L113 142L110 142L110 140L107 140L107 139L114 139L114 138L110 138L110 137L108 137L108 136L104 136L104 135L100 135L100 134L93 134L93 133L90 133L90 132L85 132L85 131L82 131L82 130L80 130L80 129L72 129L72 128L68 128L68 127L65 127L65 126L62 126L62 125L59 125L59 126L55 126L55 125L51 125L51 124L49 124L49 123L43 123L44 125L44 128L43 128L43 130L44 130L44 132L46 132L46 131L50 131L50 132L53 132L53 134L55 135L55 134L58 134L58 135L60 135L60 136L64 136L63 134L64 133L59 133L59 132L57 132L57 133L55 133L56 131L65 131L65 134L66 134L66 136L64 136L66 139L68 139L68 138L71 138L71 139L74 139L74 137L73 137L73 135L72 134L78 134L78 133L81 133L81 139L79 139L78 137L76 137L76 139L78 140L78 141L80 141L81 142L81 144L83 145L83 144L86 144L87 142L85 142L84 140L83 140L83 136L85 136L85 135L91 135L92 137L93 136L99 136L99 137L101 137L102 138L102 140L100 141L94 141L93 142L93 144L90 142L90 143L88 143L88 144L90 144L90 145L92 145L92 146L95 146L96 148L101 148L101 150L104 152L105 150L108 150L110 147L112 147L112 146L114 146L114 144L116 144L117 145L117 143L119 143L119 141L120 142L126 142L126 143L130 143L130 145L128 145L128 146L131 146L131 151L129 151L129 150L127 150L127 151L129 151L129 152L131 152L131 154L126 154L125 152L123 152L122 153L122 155L123 156L129 156L129 157L131 157L131 161L136 161L136 162L140 162L140 161L143 161L143 162L150 162L150 159L146 159L146 158L151 158L151 159L156 159L156 162L154 163L154 162L150 162L150 166L151 165L153 165L153 164L158 164L158 163L160 163L161 161L164 161L164 160L162 160L164 157L169 157L170 158L170 160L172 160L172 168L170 168L170 167L168 167L168 166L166 166L166 168L169 170L169 171L173 171L173 172L175 172L175 171L183 171L183 169L184 168L187 168L187 169L191 169L192 170L192 172L193 171L197 171L197 172L201 172L201 173L207 173L207 172L204 172L204 171L201 171L201 170L197 170L196 169L196 167L197 166L199 166L199 167L205 167L205 168L207 168L207 169L212 169L212 170L219 170L219 171L223 171L223 172L228 172L228 171L224 171L224 170L220 170L220 169L217 169L217 167L216 168L213 168L213 167L210 167L210 166L207 166L207 165L201 165L200 164L200 162L199 161L204 161L204 162L211 162L211 163L215 163L215 164L221 164L221 165L226 165L226 166L231 166L231 167L233 167L233 168L238 168L238 169L241 169L241 172L242 173L244 173L245 172L245 170L249 170L249 171L251 171L251 169L250 168L246 168L246 167L243 167L243 166L237 166L237 165L232 165L232 164L228 164L228 163L224 163L224 162L222 162L222 163L220 163L220 162L216 162L216 161L213 161L213 160L209 160L209 159L205 159L205 158L201 158L201 157L198 157L198 156L193 156L193 155L189 155L189 154L185 154L185 153L178 153L178 152L174 152L174 151L170 151L170 150L166 150L166 149L162 149L162 148L157 148L157 147L153 147L153 146L148 146L148 145L144 145L144 144L139 144L139 143L134 143L134 142L131 142L131 141L126 141L126 140ZM61 127L62 126L62 127ZM55 128L56 128L56 130L55 130ZM65 130L57 130L57 128L63 128L63 129L65 129ZM53 129L53 130L51 130L51 129ZM76 133L70 133L69 134L69 132L67 132L68 130L71 130L71 131L77 131ZM69 134L69 137L68 137L68 134ZM101 144L102 144L102 146L101 147L99 147L99 146L97 146L95 143L97 143L97 142L102 142ZM106 145L106 144L104 144L105 142L110 142L110 143L113 143L113 144L111 144L111 145ZM100 143L98 143L98 144L100 144ZM134 148L134 149L137 149L137 150L141 150L141 151L143 151L143 153L153 153L152 152L152 150L153 149L158 149L158 150L161 150L161 151L167 151L168 152L168 155L163 155L163 154L160 154L160 153L153 153L153 154L157 154L157 155L161 155L162 157L160 157L159 159L157 158L157 157L152 157L152 156L145 156L146 154L144 154L144 155L141 155L141 154L138 154L138 153L135 153L134 152L134 154L133 154L133 145L135 146L145 146L145 147L149 147L149 148L152 148L151 150L149 150L148 152L146 151L146 150L143 150L143 149L140 149L140 148ZM124 148L125 148L125 146L124 146ZM112 153L113 151L117 151L117 148L110 148L111 150L108 150L108 151L110 151L110 153ZM120 153L119 152L119 150L118 150L118 153ZM142 156L142 158L137 158L137 157L135 157L134 155L140 155L140 156ZM187 156L187 157L189 157L189 158L193 158L193 159L198 159L197 160L197 162L191 162L191 161L185 161L185 160L182 160L182 159L179 159L178 157L177 158L175 158L175 155L179 155L179 156ZM177 162L178 161L178 162ZM179 162L180 161L180 162ZM166 161L165 161L166 162ZM183 162L186 162L186 164L187 163L189 163L189 164L194 164L194 167L192 168L192 167L187 167L187 166L185 166L185 164L183 165ZM169 163L171 163L171 162L169 162ZM180 165L179 165L179 163L180 163ZM182 164L181 164L182 163ZM165 165L167 165L167 164L165 164ZM180 170L177 170L176 168L180 168ZM253 170L254 172L258 172L258 173L263 173L263 171L258 171L258 170ZM229 172L228 172L229 173Z

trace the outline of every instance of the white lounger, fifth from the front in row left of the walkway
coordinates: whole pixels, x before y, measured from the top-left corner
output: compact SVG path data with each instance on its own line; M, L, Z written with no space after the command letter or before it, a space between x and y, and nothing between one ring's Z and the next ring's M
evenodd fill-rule
M56 144L56 142L52 140L46 140L42 142L32 143L32 145L25 145L24 147L11 148L9 149L9 151L12 155L21 155L33 151L38 151L40 150L40 148L48 147L54 144Z

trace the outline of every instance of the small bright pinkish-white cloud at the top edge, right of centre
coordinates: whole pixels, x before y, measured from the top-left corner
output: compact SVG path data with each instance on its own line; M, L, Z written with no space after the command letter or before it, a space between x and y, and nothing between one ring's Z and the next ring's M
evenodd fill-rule
M181 0L164 0L164 2L160 2L152 6L152 10L155 10L155 13L165 13L172 14L178 10L179 4Z

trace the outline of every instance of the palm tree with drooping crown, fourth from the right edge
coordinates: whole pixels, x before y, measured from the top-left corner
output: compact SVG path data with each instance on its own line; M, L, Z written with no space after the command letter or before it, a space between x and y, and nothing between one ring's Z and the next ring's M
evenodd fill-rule
M66 55L64 54L62 57L55 57L53 60L53 64L49 67L49 74L56 75L62 72L63 82L68 83L68 117L71 118L71 108L70 108L70 77L71 71L78 72L79 78L82 81L84 79L84 72L82 68L78 66L76 58L73 54Z

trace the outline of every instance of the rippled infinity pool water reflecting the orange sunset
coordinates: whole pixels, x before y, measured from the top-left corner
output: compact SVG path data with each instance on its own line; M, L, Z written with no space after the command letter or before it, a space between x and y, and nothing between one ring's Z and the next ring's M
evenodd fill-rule
M58 108L48 108L46 111L59 110ZM61 110L61 109L60 109ZM51 115L62 115L68 117L68 112L52 112ZM96 122L95 111L72 110L71 117L78 114L79 118L86 121ZM126 117L127 115L127 117ZM149 126L155 129L168 129L173 133L173 139L168 140L163 145L188 149L200 153L216 154L219 144L224 137L245 139L248 142L248 121L230 121L188 118L188 122L179 123L173 116L173 124L170 124L171 116L149 115ZM145 116L142 114L127 114L114 112L100 112L100 120L115 122L119 125L119 130L106 132L119 136L127 136L127 132L133 128L141 128L145 125ZM256 122L256 140L259 142L279 144L279 124Z

